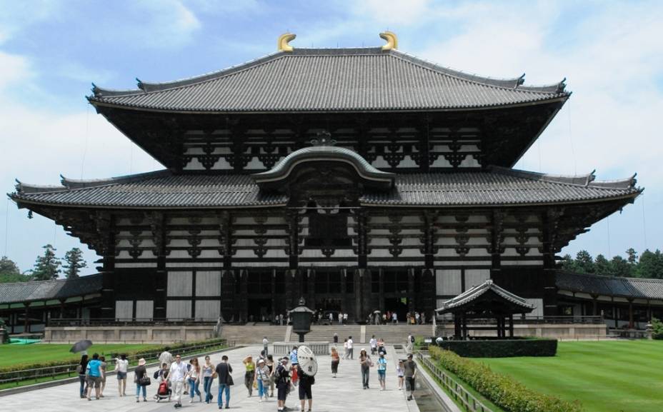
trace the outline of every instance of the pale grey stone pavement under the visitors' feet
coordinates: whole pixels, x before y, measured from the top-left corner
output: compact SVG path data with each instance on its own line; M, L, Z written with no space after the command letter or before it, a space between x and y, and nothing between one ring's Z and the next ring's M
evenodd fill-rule
M305 344L305 343L304 343ZM362 346L355 348L356 355ZM369 346L366 346L369 349ZM230 410L243 411L276 411L276 393L274 398L269 401L259 403L257 390L254 390L254 396L247 397L247 391L244 387L244 365L241 360L249 354L257 356L262 347L248 346L237 348L223 353L216 353L212 356L213 363L221 361L223 354L229 357L229 362L234 368L233 378L235 385L231 386ZM380 391L377 380L377 367L371 368L370 389L362 389L362 374L359 370L359 361L357 356L354 360L342 360L339 365L337 378L332 378L331 358L329 356L318 356L319 369L316 374L316 383L312 387L313 391L313 411L329 412L342 411L351 408L354 411L362 412L419 412L415 401L407 401L404 391L398 390L398 381L395 372L395 359L404 357L403 353L395 353L393 346L387 346L387 390ZM199 359L202 361L202 358ZM155 368L150 368L148 373L152 376ZM147 387L148 402L136 403L136 386L133 383L133 372L127 377L126 397L119 397L117 393L117 380L115 376L109 376L104 391L105 398L99 401L92 401L79 398L79 383L68 383L62 386L40 389L26 393L16 393L15 395L4 396L2 404L7 410L16 411L49 411L49 412L71 412L71 411L174 411L174 402L168 403L154 401L156 385L153 383ZM181 411L217 411L216 396L218 385L216 382L212 386L214 393L213 403L207 405L196 401L189 403L189 397L183 396ZM202 392L202 391L201 391ZM276 392L276 391L275 391ZM416 396L416 393L415 393ZM299 411L299 396L295 391L291 391L286 406L292 411Z

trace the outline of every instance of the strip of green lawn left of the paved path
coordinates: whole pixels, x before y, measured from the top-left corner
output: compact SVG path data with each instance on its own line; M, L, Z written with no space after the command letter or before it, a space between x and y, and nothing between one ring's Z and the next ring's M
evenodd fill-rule
M109 353L122 353L124 351L136 351L144 348L158 348L160 345L144 344L95 344L88 349L92 353L100 355ZM0 367L11 366L19 363L39 363L44 361L57 361L59 359L71 359L73 363L81 359L81 355L69 352L71 345L60 345L56 343L33 343L31 345L0 345Z

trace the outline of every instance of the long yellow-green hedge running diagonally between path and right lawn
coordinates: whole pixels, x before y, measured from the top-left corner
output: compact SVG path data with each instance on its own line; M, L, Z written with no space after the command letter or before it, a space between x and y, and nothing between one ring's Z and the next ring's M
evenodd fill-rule
M510 412L582 412L579 401L532 391L510 376L493 372L483 363L462 358L452 351L429 347L431 357L492 403Z

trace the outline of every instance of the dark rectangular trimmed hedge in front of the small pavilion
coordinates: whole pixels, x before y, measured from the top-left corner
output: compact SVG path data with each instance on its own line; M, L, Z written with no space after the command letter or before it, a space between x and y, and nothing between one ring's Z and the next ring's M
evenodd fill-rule
M557 339L442 341L438 346L464 358L555 356L557 353Z

